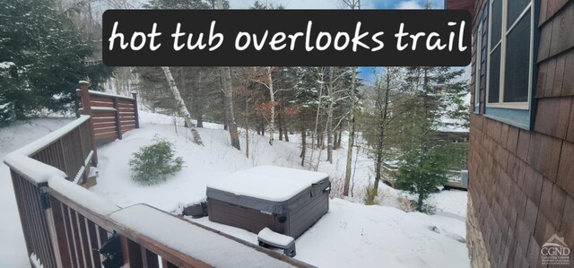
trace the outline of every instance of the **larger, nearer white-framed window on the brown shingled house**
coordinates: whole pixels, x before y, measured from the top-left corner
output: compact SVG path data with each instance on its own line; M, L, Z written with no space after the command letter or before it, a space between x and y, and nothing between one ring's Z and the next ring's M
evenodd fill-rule
M489 4L487 108L529 109L533 80L532 0Z

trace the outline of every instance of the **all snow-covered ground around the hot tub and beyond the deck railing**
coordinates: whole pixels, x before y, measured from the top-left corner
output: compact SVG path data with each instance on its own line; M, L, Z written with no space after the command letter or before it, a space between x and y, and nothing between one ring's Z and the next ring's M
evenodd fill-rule
M190 134L185 128L176 127L172 117L146 112L140 116L142 128L126 133L123 140L98 151L100 177L91 191L121 207L147 203L178 214L183 207L205 199L205 185L210 179L261 165L294 169L312 166L335 181L344 177L344 149L334 152L333 164L326 162L326 151L315 150L307 167L300 167L299 135L291 135L291 143L275 139L274 146L269 146L268 138L250 133L250 158L246 158L245 133L241 137L243 151L237 151L231 149L229 134L222 130L222 125L204 123L205 128L199 129L204 141L201 147L189 141ZM35 126L16 124L0 129L0 157L69 121L41 119L33 121ZM174 143L176 154L186 164L161 185L140 186L131 181L127 162L133 152L152 143L155 135ZM309 150L308 158L310 155ZM330 201L329 212L297 239L297 259L320 267L469 266L466 245L460 242L465 238L465 192L443 191L432 195L429 202L436 206L437 213L426 215L396 209L396 197L404 194L381 184L379 193L387 198L381 200L382 205L366 206L361 203L365 187L372 183L373 161L364 151L355 151L353 156L358 156L353 160L353 196ZM320 157L318 165L317 157ZM10 222L0 225L0 237L7 238L0 240L0 267L29 266L12 183L4 164L0 165L0 177L3 222ZM334 182L334 188L337 185ZM257 236L248 231L213 223L207 218L196 221L257 243Z

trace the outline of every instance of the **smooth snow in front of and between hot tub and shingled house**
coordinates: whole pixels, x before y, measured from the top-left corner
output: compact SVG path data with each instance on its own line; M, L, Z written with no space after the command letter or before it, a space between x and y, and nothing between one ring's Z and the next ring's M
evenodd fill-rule
M464 222L337 198L329 204L329 212L296 240L296 259L342 268L470 265L466 245L459 241L465 235ZM246 230L206 217L187 219L257 244L257 235Z

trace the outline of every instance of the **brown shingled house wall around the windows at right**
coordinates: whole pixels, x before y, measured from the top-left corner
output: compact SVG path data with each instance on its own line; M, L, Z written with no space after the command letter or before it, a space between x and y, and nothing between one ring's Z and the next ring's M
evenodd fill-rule
M475 1L474 30L486 3ZM574 1L535 3L534 130L484 117L483 103L471 115L467 243L474 267L539 267L540 248L553 234L574 249ZM474 75L486 70L482 54L473 56L483 71L472 73L472 91Z

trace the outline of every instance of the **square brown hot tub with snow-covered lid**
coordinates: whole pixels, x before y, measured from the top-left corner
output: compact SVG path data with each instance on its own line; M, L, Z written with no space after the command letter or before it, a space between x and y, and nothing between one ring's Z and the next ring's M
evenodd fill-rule
M326 173L261 166L207 184L209 220L299 238L329 210Z

